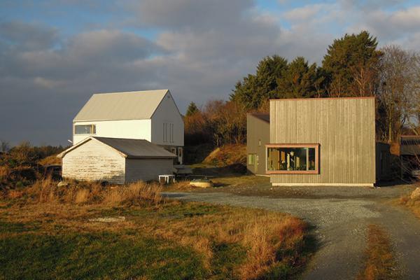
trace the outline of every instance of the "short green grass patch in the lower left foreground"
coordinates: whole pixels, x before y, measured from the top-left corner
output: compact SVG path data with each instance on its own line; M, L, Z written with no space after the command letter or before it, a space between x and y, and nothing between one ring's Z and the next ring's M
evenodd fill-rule
M19 235L0 240L4 279L204 279L186 247L111 233Z

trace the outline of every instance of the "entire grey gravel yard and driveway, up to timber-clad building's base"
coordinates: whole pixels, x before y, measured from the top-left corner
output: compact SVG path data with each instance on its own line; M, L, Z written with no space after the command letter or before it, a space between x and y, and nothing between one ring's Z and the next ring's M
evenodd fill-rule
M304 219L314 226L318 241L318 251L304 279L355 279L363 262L367 225L375 223L391 236L405 279L419 279L420 221L392 202L414 186L272 187L265 179L256 178L256 182L165 195L176 200L281 211Z

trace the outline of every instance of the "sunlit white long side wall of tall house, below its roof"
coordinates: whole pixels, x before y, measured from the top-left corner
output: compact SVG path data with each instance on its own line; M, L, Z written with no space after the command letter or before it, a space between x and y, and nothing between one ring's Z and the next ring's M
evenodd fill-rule
M74 125L96 125L96 134L74 134ZM151 141L151 120L102 120L73 123L73 145L90 136Z

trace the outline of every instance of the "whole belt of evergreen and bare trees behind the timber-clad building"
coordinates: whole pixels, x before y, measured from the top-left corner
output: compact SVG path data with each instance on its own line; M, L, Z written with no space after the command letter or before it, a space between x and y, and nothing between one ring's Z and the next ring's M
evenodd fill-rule
M419 134L420 57L398 45L377 48L367 31L346 34L328 46L321 66L304 57L265 57L238 81L230 100L191 102L184 118L186 145L241 144L246 113L269 111L269 99L367 97L377 101L377 141Z

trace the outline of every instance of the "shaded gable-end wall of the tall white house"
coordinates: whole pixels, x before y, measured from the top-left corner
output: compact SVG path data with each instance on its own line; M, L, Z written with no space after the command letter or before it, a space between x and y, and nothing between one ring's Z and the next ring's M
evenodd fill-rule
M166 124L166 138L164 125ZM152 116L152 143L164 146L183 146L184 127L172 95L167 92Z

